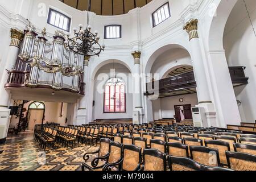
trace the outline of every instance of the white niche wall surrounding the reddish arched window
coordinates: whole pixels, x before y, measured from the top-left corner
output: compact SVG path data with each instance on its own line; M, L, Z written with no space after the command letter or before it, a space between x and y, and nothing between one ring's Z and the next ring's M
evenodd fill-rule
M110 69L115 69L116 77L122 78L126 84L126 113L104 113L104 85L106 81L110 78ZM118 63L110 63L104 65L97 72L94 80L94 101L95 105L93 107L93 120L96 119L119 119L119 118L133 118L133 94L129 93L129 69L124 65ZM103 81L101 80L102 74L107 74ZM98 80L98 78L100 80Z

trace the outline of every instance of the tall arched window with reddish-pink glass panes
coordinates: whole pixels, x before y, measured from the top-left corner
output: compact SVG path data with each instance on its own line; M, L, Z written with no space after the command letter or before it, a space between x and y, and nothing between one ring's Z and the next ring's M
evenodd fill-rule
M121 78L110 78L105 84L104 113L125 113L125 83Z

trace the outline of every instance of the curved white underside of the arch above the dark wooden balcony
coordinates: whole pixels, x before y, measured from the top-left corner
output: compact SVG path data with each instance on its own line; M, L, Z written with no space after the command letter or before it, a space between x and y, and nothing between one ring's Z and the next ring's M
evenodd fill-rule
M166 52L166 51L169 51L171 49L175 49L175 48L181 48L181 49L184 49L185 51L188 52L189 56L191 56L191 53L188 51L187 48L185 48L184 46L181 46L180 44L167 44L165 46L162 46L158 49L156 49L154 51L154 53L152 53L152 55L149 57L148 61L147 61L147 64L146 64L146 67L144 68L144 73L150 73L151 72L151 68L152 66L154 65L155 63L155 60L160 56L162 55L162 53Z

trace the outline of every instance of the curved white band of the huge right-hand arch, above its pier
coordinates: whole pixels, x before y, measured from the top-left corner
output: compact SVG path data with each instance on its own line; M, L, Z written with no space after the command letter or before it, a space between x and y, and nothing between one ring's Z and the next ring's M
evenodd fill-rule
M226 22L238 0L215 0L212 5L216 6L215 15L210 20L209 29L209 51L224 50L223 38Z

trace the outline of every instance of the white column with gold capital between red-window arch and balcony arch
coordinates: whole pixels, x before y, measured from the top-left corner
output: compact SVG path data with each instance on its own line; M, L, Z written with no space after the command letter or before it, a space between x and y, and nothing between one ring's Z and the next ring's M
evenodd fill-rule
M144 122L144 110L142 107L142 89L141 89L141 52L135 51L132 53L134 58L134 89L133 96L135 97L135 109L133 112L133 123L142 124Z

